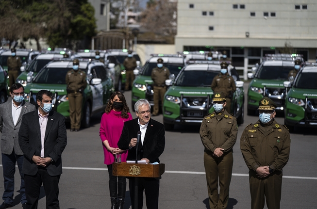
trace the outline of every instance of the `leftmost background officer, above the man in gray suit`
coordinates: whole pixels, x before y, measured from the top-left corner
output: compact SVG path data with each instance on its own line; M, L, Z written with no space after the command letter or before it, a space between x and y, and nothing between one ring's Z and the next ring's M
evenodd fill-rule
M21 59L17 56L17 50L11 48L11 57L8 57L8 76L9 76L9 86L11 87L17 80L20 73Z

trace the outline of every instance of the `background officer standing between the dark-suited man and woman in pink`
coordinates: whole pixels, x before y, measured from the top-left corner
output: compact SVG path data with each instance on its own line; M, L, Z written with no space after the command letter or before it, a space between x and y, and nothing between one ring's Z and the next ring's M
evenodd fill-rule
M67 95L69 101L70 131L81 127L83 90L87 86L86 73L79 69L79 60L73 61L73 69L66 74Z

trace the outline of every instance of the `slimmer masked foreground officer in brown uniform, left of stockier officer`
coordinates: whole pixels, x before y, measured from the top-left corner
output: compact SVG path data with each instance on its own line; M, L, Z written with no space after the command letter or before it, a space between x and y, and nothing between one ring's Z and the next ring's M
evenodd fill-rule
M226 209L229 201L229 186L234 163L233 146L238 126L236 118L224 107L224 94L216 93L213 113L204 116L200 126L200 139L204 145L204 165L211 209ZM218 177L220 192L218 195Z

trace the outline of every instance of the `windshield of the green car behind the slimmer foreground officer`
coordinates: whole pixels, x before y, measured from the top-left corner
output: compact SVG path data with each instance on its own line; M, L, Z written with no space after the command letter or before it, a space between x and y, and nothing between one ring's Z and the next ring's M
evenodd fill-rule
M184 70L177 78L176 86L209 86L219 71Z

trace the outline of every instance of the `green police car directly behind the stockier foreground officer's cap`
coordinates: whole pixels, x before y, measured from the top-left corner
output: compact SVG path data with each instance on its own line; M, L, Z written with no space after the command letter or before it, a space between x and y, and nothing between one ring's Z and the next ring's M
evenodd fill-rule
M286 90L283 82L288 78L288 73L294 69L294 61L290 60L265 60L255 75L248 73L252 79L248 88L248 115L255 114L259 107L259 100L268 96L278 107L276 110L284 111Z

